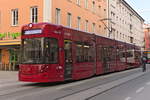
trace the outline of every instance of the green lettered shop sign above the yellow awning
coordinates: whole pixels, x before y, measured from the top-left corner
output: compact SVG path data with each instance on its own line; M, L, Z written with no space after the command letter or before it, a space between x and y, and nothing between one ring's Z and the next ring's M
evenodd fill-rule
M19 36L21 36L21 33L19 33L19 32L16 32L16 33L10 33L10 32L0 33L0 39L6 38L6 37L16 39Z

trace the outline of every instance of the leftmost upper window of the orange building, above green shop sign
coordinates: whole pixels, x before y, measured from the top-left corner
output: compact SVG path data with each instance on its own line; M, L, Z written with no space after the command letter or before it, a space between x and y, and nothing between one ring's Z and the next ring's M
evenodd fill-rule
M18 9L11 10L12 13L12 26L18 25Z

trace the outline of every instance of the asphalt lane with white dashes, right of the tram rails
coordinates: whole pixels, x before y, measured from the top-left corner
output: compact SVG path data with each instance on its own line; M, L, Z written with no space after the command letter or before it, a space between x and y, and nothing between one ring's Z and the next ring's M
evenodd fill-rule
M150 73L97 94L88 100L149 100Z

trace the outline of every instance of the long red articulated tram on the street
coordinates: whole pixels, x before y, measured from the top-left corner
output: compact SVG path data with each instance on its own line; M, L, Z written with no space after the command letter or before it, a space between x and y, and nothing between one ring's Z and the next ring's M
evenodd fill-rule
M21 40L20 81L78 80L140 65L137 46L61 25L25 25Z

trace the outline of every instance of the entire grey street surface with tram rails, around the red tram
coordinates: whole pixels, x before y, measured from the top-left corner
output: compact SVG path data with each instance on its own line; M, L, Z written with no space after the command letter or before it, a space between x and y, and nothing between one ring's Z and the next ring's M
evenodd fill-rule
M149 71L136 68L61 83L19 82L17 72L0 71L0 100L148 100Z

